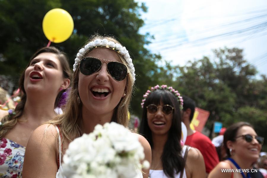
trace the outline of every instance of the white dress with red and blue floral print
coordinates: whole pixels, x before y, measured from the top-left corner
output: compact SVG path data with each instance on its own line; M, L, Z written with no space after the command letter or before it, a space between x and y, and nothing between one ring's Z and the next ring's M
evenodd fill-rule
M0 177L22 177L25 149L7 138L0 140Z

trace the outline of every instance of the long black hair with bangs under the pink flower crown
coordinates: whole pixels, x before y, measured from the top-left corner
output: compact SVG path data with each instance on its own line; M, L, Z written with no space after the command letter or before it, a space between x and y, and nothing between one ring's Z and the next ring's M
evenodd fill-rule
M163 105L169 104L174 107L173 118L171 128L168 133L168 139L164 145L161 155L161 163L163 165L163 171L168 177L174 177L174 173L182 171L185 167L185 161L181 156L182 147L180 144L182 128L181 128L181 111L179 101L177 97L168 90L157 89L151 92L144 102L142 120L140 123L139 133L143 135L149 142L151 148L154 148L152 131L147 121L147 106L149 104L160 105L160 101Z

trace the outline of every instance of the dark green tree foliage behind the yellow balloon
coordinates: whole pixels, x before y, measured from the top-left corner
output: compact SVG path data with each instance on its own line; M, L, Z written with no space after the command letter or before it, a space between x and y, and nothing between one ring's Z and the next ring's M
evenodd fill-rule
M138 5L134 0L1 0L0 7L0 75L18 79L31 55L47 45L48 40L42 31L44 15L50 9L62 8L73 18L74 32L65 42L52 43L52 46L69 55L71 67L77 51L88 36L95 32L112 34L130 52L136 75L139 75L134 89L137 98L132 101L135 112L139 111L139 99L147 85L158 82L151 74L158 76L162 72L156 64L161 57L144 48L149 43L147 39L150 35L138 33L144 24L140 12L147 10L144 4Z

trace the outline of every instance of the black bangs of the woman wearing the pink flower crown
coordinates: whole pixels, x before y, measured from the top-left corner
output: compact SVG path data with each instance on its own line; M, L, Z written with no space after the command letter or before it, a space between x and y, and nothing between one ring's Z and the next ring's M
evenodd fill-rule
M165 104L169 104L172 107L175 107L174 99L176 99L171 92L168 90L155 90L149 94L144 102L144 107L149 104L160 105L160 101Z

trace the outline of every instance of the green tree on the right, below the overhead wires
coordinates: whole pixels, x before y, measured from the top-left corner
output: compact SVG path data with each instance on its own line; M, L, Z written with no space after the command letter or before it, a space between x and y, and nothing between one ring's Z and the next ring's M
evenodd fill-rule
M239 121L251 123L258 135L267 138L267 80L256 78L254 66L244 59L242 50L214 50L215 59L203 57L177 66L174 88L193 98L197 106L210 111L206 126L214 121L229 126ZM265 144L265 149L267 144Z

